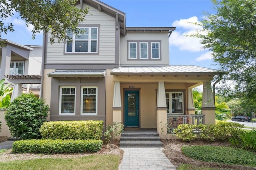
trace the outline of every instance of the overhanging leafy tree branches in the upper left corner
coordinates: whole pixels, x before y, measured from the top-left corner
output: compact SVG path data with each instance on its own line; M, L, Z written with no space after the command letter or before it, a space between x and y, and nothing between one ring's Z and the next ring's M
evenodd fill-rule
M4 32L14 31L13 24L4 24L4 20L13 17L14 12L20 13L20 18L25 20L26 26L32 24L32 38L36 33L51 31L52 38L58 42L71 40L66 35L70 30L78 34L82 30L76 29L79 22L84 20L89 13L88 7L84 9L76 8L77 0L0 0L0 38ZM3 42L2 42L3 43ZM1 45L1 44L0 44ZM3 45L3 44L2 44Z

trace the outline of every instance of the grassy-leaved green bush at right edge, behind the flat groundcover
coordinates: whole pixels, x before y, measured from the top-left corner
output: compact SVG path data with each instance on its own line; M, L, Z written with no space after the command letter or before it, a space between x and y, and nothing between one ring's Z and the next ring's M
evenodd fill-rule
M256 151L256 130L244 131L242 130L238 136L232 136L230 144L238 146L246 150Z

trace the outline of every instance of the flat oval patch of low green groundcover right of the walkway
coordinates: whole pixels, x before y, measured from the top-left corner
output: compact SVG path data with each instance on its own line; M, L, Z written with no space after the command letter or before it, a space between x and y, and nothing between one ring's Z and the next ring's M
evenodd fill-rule
M219 146L184 146L182 153L205 162L256 166L256 154L242 149Z

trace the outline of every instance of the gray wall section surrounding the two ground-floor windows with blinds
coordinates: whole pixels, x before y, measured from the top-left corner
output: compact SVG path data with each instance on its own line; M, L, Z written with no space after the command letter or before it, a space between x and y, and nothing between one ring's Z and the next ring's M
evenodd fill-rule
M76 110L75 115L59 115L60 105L60 86L76 87ZM81 86L98 87L98 114L81 115ZM69 77L69 78L52 78L51 104L50 104L50 121L59 120L103 120L106 121L106 88L104 78L88 77Z

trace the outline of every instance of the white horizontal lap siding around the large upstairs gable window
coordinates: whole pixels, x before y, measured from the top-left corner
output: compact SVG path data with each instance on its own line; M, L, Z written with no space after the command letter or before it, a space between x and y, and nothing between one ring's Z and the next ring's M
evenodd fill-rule
M86 4L84 4L86 6ZM80 8L80 5L77 6ZM89 6L90 7L90 6ZM81 25L100 25L99 27L99 54L64 55L64 43L50 43L51 34L48 34L47 63L114 63L115 62L115 18L90 7L91 14L87 14Z

